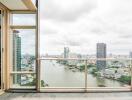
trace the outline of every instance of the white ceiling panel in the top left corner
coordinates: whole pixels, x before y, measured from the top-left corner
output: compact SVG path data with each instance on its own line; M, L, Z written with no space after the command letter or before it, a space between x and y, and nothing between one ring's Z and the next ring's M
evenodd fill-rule
M28 10L22 0L0 0L10 10Z

